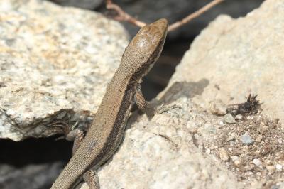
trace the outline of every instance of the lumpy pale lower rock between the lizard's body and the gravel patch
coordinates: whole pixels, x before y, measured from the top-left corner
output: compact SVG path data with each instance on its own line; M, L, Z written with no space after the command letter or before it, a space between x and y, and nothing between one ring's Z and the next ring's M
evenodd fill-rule
M207 114L196 111L182 93L170 95L174 102L166 102L175 103L180 109L155 115L151 121L146 115L138 119L136 114L131 116L121 148L99 171L102 189L226 188L228 182L230 188L244 187L233 173L195 146L189 132L195 126L204 137L216 134L204 128ZM229 158L225 156L224 159ZM192 175L196 176L193 180ZM87 189L87 185L83 188Z

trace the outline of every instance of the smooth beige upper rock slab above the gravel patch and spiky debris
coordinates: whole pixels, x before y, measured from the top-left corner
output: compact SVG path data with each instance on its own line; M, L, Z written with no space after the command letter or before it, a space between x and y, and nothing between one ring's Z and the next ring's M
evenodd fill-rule
M185 53L170 85L207 80L194 102L244 102L257 94L263 113L284 121L283 1L265 1L244 18L219 16Z

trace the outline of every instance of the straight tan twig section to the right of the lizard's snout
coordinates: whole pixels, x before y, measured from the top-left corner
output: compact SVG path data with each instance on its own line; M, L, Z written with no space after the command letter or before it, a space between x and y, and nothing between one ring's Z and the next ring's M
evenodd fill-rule
M190 15L188 15L187 17L183 18L181 21L177 21L173 24L170 24L168 31L173 31L176 28L185 25L185 23L188 23L190 21L192 21L192 19L197 18L198 16L202 15L202 13L208 11L209 9L211 9L213 6L221 3L224 0L214 0L211 1L209 4L203 6L201 9L199 9L198 11L195 11L194 13L191 13Z

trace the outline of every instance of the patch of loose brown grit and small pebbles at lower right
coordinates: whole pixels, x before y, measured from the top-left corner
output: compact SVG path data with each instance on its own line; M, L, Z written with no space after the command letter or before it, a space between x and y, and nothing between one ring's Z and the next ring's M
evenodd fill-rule
M214 116L218 134L203 143L203 150L236 173L239 181L271 188L284 180L284 129L278 119L254 113L234 116L233 124ZM246 143L244 135L252 140Z

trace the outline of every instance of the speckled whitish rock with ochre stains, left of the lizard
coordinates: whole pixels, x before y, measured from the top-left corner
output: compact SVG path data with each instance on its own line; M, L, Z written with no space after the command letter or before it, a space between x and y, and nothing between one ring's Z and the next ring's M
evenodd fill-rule
M89 122L128 43L124 28L46 1L4 0L0 16L0 138Z

